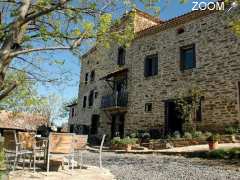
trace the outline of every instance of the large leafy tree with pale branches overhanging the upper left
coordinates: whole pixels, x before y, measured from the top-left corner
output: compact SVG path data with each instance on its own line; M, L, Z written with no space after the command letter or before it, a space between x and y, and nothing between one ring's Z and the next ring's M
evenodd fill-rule
M145 5L155 12L159 0L4 0L0 1L2 21L0 25L0 100L9 95L18 84L6 81L11 65L21 62L31 68L27 74L39 81L41 73L36 65L40 52L70 50L81 55L86 46L92 44L109 45L111 40L128 43L133 39L131 23L123 30L114 20L118 10L130 9L136 3ZM114 13L116 12L116 13ZM59 51L61 52L61 51ZM37 54L36 53L40 53ZM30 54L35 54L28 59ZM47 59L52 61L51 58ZM61 61L55 61L61 64ZM22 66L15 69L23 71ZM41 70L40 70L41 72ZM29 77L28 77L29 78ZM52 82L47 77L40 78Z

